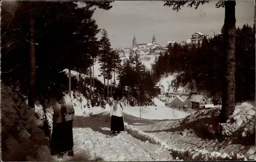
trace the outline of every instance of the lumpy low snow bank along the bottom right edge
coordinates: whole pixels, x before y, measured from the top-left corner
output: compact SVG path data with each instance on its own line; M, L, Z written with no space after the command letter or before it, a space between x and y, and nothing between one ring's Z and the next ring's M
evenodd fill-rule
M205 149L170 149L172 151L172 156L176 159L182 160L247 160L244 155L231 153L220 153L217 151L209 152ZM250 157L250 160L255 159L255 157Z

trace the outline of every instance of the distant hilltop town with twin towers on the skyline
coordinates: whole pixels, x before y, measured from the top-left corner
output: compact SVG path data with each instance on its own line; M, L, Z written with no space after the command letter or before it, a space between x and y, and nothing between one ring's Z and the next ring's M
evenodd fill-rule
M213 36L209 36L208 34L204 34L201 32L196 32L191 35L190 39L187 41L177 42L181 45L189 44L189 43L202 43L202 40L206 37L207 39L213 38ZM119 57L125 57L125 55L130 55L130 53L144 56L144 55L157 55L161 52L165 52L168 49L169 44L174 44L176 41L168 41L166 45L160 45L156 41L155 35L152 38L151 43L137 43L137 39L134 36L132 42L132 48L114 48L117 50Z

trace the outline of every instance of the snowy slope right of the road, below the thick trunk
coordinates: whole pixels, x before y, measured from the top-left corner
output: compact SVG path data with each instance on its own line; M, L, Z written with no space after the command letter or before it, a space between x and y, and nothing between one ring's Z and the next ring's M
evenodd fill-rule
M211 138L217 133L219 113L219 109L216 108L202 110L179 120L153 121L148 124L138 124L136 121L132 125L152 134L168 146L172 146L170 150L174 158L178 157L183 160L254 159L255 146L252 146L251 143L245 144L246 140L242 141L241 138L249 138L250 133L253 129L255 130L255 125L250 128L251 131L248 128L249 123L255 123L255 107L248 103L236 106L232 116L235 122L222 125L225 133L229 132L229 136L226 135L223 141ZM254 122L250 121L253 117ZM132 121L130 122L132 123ZM238 131L239 129L242 130ZM247 137L244 137L246 135ZM240 140L236 140L237 138Z

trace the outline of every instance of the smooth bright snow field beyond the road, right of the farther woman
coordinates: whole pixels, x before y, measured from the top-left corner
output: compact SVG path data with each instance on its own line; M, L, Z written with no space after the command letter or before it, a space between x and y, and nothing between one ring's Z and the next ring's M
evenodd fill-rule
M143 119L181 119L190 113L182 112L165 106L127 106L123 111L126 114Z

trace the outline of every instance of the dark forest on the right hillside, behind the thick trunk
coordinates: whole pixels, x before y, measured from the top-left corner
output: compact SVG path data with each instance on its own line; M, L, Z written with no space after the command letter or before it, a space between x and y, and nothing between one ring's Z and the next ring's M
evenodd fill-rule
M223 31L222 31L223 32ZM154 79L162 75L178 73L174 87L189 84L199 92L213 97L215 104L221 103L223 55L223 33L202 44L169 44L168 51L160 55L153 65ZM236 102L255 98L255 24L236 29Z

